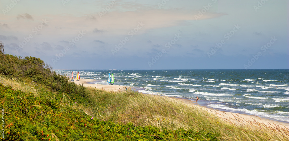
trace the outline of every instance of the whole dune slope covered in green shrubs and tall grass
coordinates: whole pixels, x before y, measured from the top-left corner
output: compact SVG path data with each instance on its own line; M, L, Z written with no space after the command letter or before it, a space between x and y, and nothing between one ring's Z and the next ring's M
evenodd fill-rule
M76 85L35 57L5 55L0 73L5 140L289 140L288 129L236 126L169 97Z

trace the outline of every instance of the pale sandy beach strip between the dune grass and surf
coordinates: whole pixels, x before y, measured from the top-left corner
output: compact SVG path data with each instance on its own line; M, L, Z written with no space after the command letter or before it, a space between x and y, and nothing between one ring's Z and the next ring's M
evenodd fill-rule
M95 87L97 89L103 88L106 91L112 91L112 92L118 92L118 89L121 89L121 91L125 91L125 87L127 87L128 90L138 91L134 87L129 87L129 86L95 84L96 81L100 81L100 80L81 79L80 81L74 81L74 82L76 84L83 84L86 87ZM95 82L95 83L92 84L92 82ZM148 93L143 93L143 94L148 94ZM165 96L165 95L160 95L160 96ZM166 97L170 97L170 96L166 96ZM215 114L220 119L223 119L224 121L228 123L233 123L236 125L244 125L244 124L248 125L248 123L263 123L264 125L273 126L273 127L278 127L282 125L285 128L289 129L289 123L286 121L279 121L276 119L256 116L253 114L247 114L247 113L239 112L239 111L211 108L207 106L208 105L206 104L207 101L204 101L204 100L199 100L199 102L196 104L196 102L194 101L195 99L188 99L188 98L181 98L181 97L170 97L170 98L184 101L185 104L202 107L205 110L211 112L212 114ZM209 102L214 102L214 101L209 101Z

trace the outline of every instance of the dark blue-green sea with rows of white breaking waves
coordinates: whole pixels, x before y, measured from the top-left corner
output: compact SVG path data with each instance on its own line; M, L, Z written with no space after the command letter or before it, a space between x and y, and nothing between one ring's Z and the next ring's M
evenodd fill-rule
M55 70L71 76L72 70ZM74 70L74 72L76 72ZM289 122L289 69L79 70L93 84L134 87L140 93L180 97L221 111Z

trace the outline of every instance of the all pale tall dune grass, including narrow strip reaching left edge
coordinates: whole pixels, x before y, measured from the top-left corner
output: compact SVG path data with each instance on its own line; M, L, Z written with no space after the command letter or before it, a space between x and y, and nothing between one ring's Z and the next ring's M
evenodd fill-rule
M23 80L0 76L0 83L11 86L14 90L34 93L34 97L57 100L61 105L60 110L64 113L85 112L88 116L100 121L112 121L124 125L132 123L134 126L140 127L154 126L160 130L170 129L173 131L182 128L196 133L207 131L205 134L212 133L219 140L289 140L289 129L284 127L246 121L243 122L247 124L235 125L227 122L229 119L220 119L216 114L212 114L202 107L185 104L183 101L170 97L134 91L116 93L86 88L86 92L89 94L88 99L93 103L88 104L65 93L59 96L59 94L50 92L46 95L46 91L49 90L29 81L27 79L23 82ZM203 138L203 140L207 140L207 138Z

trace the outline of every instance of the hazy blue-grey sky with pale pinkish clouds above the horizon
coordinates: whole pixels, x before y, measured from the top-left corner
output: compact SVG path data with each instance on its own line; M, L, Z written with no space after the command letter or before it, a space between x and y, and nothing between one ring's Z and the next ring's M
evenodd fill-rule
M287 0L1 0L5 54L54 69L288 69Z

